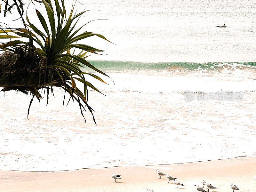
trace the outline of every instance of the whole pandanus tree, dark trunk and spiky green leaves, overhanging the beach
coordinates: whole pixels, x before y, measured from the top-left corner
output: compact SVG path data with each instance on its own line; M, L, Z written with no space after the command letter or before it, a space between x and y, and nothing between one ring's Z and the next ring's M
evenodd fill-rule
M41 92L44 90L47 96L47 105L49 94L53 94L52 88L60 87L64 89L63 106L67 92L69 100L72 99L78 103L82 115L87 108L93 117L93 109L88 105L88 87L97 92L100 91L88 82L86 77L91 76L106 83L96 74L108 75L86 60L87 52L98 54L97 52L102 52L102 50L86 44L78 44L77 41L90 36L107 39L100 34L83 32L83 27L86 24L77 27L78 20L87 11L74 14L75 6L72 5L70 14L67 15L64 0L60 1L61 4L58 0L41 1L44 4L48 21L36 10L40 21L37 24L40 26L30 22L28 16L25 21L22 1L13 1L13 5L8 4L8 0L5 1L4 16L8 9L16 6L24 28L0 28L0 39L9 39L8 42L0 43L0 51L3 51L0 54L0 86L3 87L1 91L16 90L27 95L28 93L32 94L28 107L29 114L34 97L40 101ZM22 6L18 6L18 3ZM27 40L21 41L17 38ZM73 51L75 49L79 49L79 53L75 54ZM94 70L95 73L85 72L86 68ZM78 81L83 84L82 88L76 86ZM95 122L94 117L93 120Z

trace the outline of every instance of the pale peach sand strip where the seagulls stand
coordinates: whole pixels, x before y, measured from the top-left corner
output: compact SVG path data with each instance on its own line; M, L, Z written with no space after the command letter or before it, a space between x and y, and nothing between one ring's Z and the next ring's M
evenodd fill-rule
M196 191L194 185L204 179L218 187L217 190L210 190L213 192L232 192L230 181L233 181L241 192L253 192L256 191L256 183L253 180L256 174L255 166L256 156L248 156L185 164L111 167L64 172L0 171L0 191L146 192L150 188L155 192L194 192ZM165 176L158 179L157 169L178 177L185 186L179 186L177 189L172 181L168 183ZM113 183L112 173L121 174L122 179Z

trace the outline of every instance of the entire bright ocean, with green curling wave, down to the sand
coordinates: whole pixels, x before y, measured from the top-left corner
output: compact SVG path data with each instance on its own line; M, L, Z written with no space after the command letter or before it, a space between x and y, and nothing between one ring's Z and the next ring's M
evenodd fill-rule
M108 19L84 30L115 43L81 42L106 50L107 55L89 58L114 81L102 77L106 85L88 77L107 95L89 92L97 126L88 112L85 123L76 103L62 108L63 91L57 88L48 106L45 98L34 100L28 118L31 96L0 92L1 170L60 171L256 154L255 1L79 2L86 3L76 3L79 11L101 10L86 13L80 24ZM28 16L34 8L29 5ZM13 18L0 19L19 26ZM224 23L227 28L215 27ZM222 93L225 97L219 97Z

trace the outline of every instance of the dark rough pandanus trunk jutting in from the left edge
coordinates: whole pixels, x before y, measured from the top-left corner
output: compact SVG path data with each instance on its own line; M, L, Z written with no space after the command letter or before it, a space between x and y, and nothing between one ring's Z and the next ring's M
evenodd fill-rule
M24 57L24 52L20 49L0 54L0 87L4 87L1 91L18 90L26 94L29 91L42 98L38 92L38 89L44 86L39 81L39 63L40 61L36 59L30 59L29 62L28 57Z

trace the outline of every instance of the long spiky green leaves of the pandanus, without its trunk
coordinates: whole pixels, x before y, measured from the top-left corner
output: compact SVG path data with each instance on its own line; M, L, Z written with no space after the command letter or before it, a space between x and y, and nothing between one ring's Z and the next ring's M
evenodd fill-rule
M24 68L21 68L21 70L27 70L26 73L29 72L30 74L33 73L36 75L32 81L33 83L30 82L28 86L23 88L20 86L12 86L11 89L23 90L25 93L30 91L36 95L37 98L40 98L41 95L39 94L38 90L45 88L47 90L48 104L49 93L50 91L52 92L52 87L61 87L65 90L65 93L68 92L72 100L76 100L78 102L82 115L85 107L87 107L92 113L93 110L88 105L88 87L91 87L97 92L100 91L91 83L86 81L84 75L92 76L103 83L106 82L95 74L83 72L82 68L86 66L87 68L93 69L95 72L108 76L85 60L87 57L85 54L87 52L97 53L103 52L103 50L96 49L86 44L76 44L76 41L90 36L98 36L104 40L107 39L100 34L87 31L78 35L83 26L78 28L76 31L73 31L81 15L87 11L73 14L74 6L72 5L71 12L67 17L64 0L61 0L61 5L59 4L58 0L54 0L55 10L53 9L51 0L42 0L42 2L48 15L50 28L48 28L47 21L44 19L42 14L36 10L36 15L40 21L41 27L44 29L44 32L39 30L39 27L32 24L29 21L28 16L26 17L26 26L28 26L28 28L10 28L0 30L0 33L4 33L4 35L1 34L0 39L16 37L25 37L28 39L28 42L13 40L7 43L2 43L0 44L0 49L5 51L13 51L15 53L21 52L19 55L22 55L27 62L24 63ZM75 23L72 25L73 22ZM36 42L39 47L35 47L34 42ZM81 52L78 55L74 53L71 54L70 49L72 48L80 49ZM28 65L28 61L32 62L32 65ZM76 81L84 84L83 90L80 90L76 86ZM33 89L34 91L31 91L31 88L29 87L35 87L35 90ZM9 89L5 87L3 91ZM94 117L93 120L95 122Z

